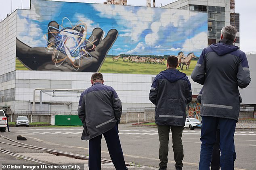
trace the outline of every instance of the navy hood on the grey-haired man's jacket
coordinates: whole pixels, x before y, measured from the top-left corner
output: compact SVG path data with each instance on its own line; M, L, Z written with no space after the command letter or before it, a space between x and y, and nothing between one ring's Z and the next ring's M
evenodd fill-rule
M227 39L221 39L219 43L210 45L212 50L218 55L225 55L238 49L237 46L233 45L233 42Z

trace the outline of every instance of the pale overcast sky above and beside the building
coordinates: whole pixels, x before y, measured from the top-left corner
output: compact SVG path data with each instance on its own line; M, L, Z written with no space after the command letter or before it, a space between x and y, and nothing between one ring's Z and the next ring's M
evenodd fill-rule
M58 1L58 0L57 0ZM59 0L60 1L60 0ZM106 0L61 0L72 2L90 2L90 3L103 3ZM127 0L128 5L146 6L147 0ZM156 7L174 2L176 0L155 0ZM0 0L0 20L6 17L17 8L29 9L30 0ZM253 43L256 37L256 0L235 0L235 12L240 13L240 49L248 51L256 51L256 45ZM153 0L151 0L151 6ZM251 29L252 28L252 29Z

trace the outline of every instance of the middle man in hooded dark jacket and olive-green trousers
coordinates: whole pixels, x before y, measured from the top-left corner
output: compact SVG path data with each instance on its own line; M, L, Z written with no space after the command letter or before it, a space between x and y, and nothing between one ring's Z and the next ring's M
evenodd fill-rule
M176 70L178 58L167 59L167 70L157 74L149 93L155 104L155 124L159 136L159 170L166 170L170 129L176 170L183 167L182 132L186 120L186 104L192 100L191 84L186 74Z

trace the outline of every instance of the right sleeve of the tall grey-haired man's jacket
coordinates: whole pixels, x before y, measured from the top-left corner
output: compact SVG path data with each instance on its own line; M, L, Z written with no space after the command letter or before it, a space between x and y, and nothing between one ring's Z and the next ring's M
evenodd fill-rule
M237 72L237 83L240 88L246 88L251 81L249 64L246 58L246 54L239 55L239 65Z

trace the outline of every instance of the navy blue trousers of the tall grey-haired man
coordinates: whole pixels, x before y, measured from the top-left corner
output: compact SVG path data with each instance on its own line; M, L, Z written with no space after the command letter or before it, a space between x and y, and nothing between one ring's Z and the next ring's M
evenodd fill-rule
M218 117L202 116L201 152L199 170L210 170L213 146L216 143L217 126L220 127L220 168L234 169L234 134L236 121Z

